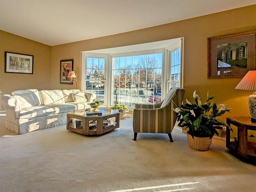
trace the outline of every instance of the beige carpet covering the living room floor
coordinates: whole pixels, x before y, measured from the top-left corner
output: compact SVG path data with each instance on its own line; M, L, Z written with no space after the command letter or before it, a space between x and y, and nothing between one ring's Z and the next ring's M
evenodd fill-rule
M2 115L2 116L1 116ZM209 151L190 149L186 134L138 133L132 117L100 136L66 126L16 135L0 114L1 192L255 192L256 167L214 139Z

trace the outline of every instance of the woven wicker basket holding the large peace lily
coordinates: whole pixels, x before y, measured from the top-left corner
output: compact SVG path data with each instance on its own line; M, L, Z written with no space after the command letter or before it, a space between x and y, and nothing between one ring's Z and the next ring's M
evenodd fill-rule
M188 146L197 151L208 151L212 143L210 137L193 137L187 132Z

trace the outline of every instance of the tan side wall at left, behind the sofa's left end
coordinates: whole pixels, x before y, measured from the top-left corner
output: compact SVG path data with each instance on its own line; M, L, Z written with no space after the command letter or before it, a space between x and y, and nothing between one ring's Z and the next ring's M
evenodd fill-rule
M33 74L5 73L5 51L34 55ZM0 31L0 90L10 94L19 89L50 89L51 47Z

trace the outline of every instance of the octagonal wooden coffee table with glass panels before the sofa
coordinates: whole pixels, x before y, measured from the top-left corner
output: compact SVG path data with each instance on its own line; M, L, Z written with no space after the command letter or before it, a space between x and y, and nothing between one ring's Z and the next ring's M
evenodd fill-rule
M86 110L76 110L67 114L67 129L82 135L101 135L119 127L119 112L98 108L100 116L88 116Z

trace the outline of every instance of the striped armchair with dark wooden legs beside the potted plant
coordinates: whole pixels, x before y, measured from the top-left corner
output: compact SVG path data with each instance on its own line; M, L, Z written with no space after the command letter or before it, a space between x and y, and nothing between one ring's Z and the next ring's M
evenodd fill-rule
M138 133L167 133L170 141L172 140L172 129L177 120L176 108L172 101L181 106L185 90L183 88L171 88L158 104L136 104L133 111L133 131L134 141Z

